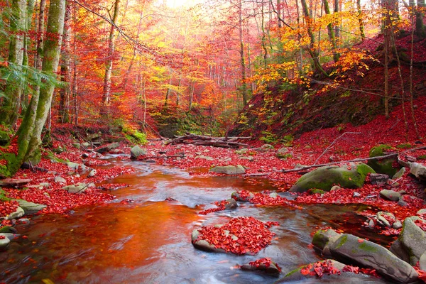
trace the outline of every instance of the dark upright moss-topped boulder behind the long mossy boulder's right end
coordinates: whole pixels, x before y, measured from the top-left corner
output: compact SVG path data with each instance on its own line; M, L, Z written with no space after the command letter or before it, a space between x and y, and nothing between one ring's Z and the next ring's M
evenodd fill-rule
M381 144L378 146L374 146L370 150L369 157L370 158L380 157L380 156L388 154L392 150L393 148L388 145ZM400 170L400 166L398 165L397 155L393 157L389 157L389 158L382 158L379 160L368 160L367 165L373 168L373 170L375 170L376 173L384 173L390 177L393 177L393 175L395 175L395 173L398 173L398 171ZM393 168L394 165L395 165L395 168Z

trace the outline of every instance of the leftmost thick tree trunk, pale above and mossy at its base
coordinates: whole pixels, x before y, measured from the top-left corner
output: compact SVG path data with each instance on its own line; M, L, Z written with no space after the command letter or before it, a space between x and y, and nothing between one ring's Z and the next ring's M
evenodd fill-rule
M18 119L21 106L21 94L23 89L23 76L21 74L23 64L23 43L26 32L26 0L12 1L12 14L10 17L11 36L9 40L8 61L17 72L9 76L4 94L6 100L1 106L0 123L13 126Z

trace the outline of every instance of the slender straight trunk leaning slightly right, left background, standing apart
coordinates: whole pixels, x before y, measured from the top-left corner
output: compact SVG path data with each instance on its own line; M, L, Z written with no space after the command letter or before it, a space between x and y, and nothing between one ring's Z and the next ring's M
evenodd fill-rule
M119 16L119 6L120 0L116 0L114 4L114 14L111 18L111 21L115 24ZM109 101L111 99L111 72L112 72L112 62L114 60L114 50L115 50L115 26L111 25L111 30L109 31L108 38L108 58L107 66L105 67L104 75L104 94L102 96L102 104L104 107L101 109L101 114L108 114L109 111Z

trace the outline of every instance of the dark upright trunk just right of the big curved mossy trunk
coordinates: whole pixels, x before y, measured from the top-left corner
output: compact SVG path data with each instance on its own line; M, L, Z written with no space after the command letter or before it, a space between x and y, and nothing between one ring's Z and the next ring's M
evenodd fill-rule
M67 1L65 10L64 34L62 37L62 64L60 65L60 75L64 87L60 89L59 117L58 121L62 124L70 122L69 106L70 106L70 87L71 87L71 60L70 60L70 35L71 35L71 4Z

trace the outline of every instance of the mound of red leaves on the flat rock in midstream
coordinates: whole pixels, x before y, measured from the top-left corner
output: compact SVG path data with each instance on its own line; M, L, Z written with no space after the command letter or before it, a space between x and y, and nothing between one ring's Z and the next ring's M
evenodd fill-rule
M272 224L272 223L271 223ZM268 226L271 226L268 224ZM226 234L228 231L229 233ZM223 226L203 226L199 229L198 239L203 239L217 249L238 255L256 254L271 244L275 234L268 230L265 223L253 217L236 217ZM232 239L232 235L238 239Z

